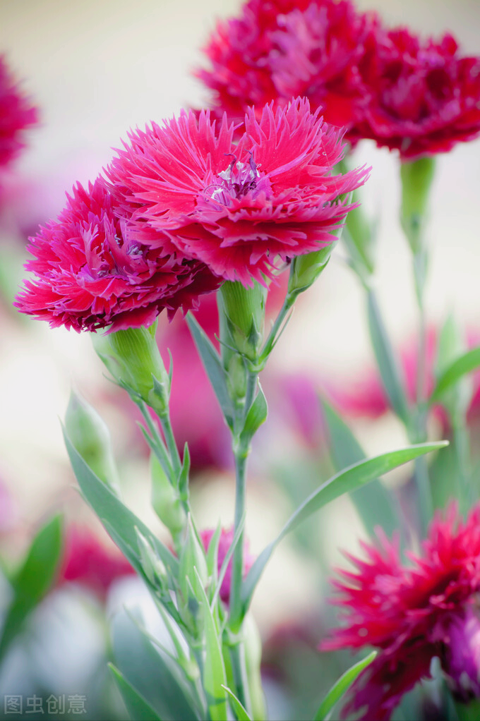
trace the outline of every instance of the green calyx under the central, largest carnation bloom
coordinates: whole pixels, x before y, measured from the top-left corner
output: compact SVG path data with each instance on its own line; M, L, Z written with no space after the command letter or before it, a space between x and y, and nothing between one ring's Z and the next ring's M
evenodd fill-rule
M219 292L220 327L226 335L222 340L250 361L256 361L263 342L266 293L256 280L251 288L227 280Z

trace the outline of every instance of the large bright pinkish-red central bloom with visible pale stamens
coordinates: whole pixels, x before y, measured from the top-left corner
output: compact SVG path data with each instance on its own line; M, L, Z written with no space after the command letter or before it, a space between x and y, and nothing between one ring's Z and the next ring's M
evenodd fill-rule
M198 260L225 280L264 283L279 260L335 239L352 208L344 197L362 185L365 168L332 175L344 154L341 132L311 113L306 99L253 108L238 142L224 116L209 112L129 136L107 174L131 217L131 237Z

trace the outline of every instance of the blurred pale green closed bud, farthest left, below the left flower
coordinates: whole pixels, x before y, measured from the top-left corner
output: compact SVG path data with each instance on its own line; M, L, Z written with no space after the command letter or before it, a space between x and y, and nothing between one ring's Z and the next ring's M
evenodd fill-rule
M71 443L87 466L117 493L118 471L107 425L95 408L73 390L66 409L65 427Z

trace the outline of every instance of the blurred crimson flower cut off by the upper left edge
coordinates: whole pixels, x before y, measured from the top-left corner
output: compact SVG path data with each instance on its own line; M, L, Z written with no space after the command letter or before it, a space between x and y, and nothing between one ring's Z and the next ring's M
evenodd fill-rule
M0 56L0 166L25 145L25 128L38 122L38 111L20 92L4 56Z

